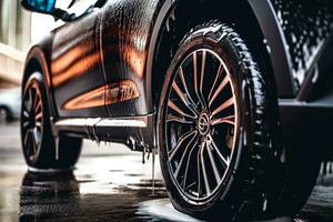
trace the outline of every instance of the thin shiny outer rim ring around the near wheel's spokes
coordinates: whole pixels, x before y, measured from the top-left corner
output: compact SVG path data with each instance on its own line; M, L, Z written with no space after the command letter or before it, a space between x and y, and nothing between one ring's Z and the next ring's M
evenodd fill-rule
M184 59L181 59L178 64L175 65L176 69L174 69L174 71L172 72L172 75L171 75L171 81L170 82L173 82L175 80L175 78L178 77L178 73L179 73L179 70L180 68L182 67L182 64L190 58L193 56L194 52L201 52L201 51L205 51L205 52L209 52L211 53L215 59L219 60L220 64L223 65L223 69L225 70L226 72L226 75L229 77L229 81L230 81L230 85L231 85L231 91L232 91L232 95L234 98L234 135L233 135L233 142L232 142L232 149L231 149L231 153L230 153L230 161L229 161L229 164L226 167L226 169L224 170L223 172L223 175L219 182L219 184L216 184L216 186L214 188L213 191L211 191L210 194L208 194L206 196L203 196L203 198L196 198L192 194L190 194L189 192L184 191L182 188L181 188L181 184L179 183L178 179L174 176L174 171L172 170L172 167L171 167L171 162L169 161L169 153L167 152L167 155L168 155L168 160L167 160L167 167L168 167L168 171L169 171L169 175L171 178L171 180L173 181L173 184L175 184L176 186L176 190L178 192L185 198L186 201L193 203L193 204L196 204L196 205L200 205L200 204L204 204L208 200L212 199L215 196L215 194L218 193L219 190L221 190L223 186L228 186L229 182L225 181L225 178L228 175L230 175L230 172L232 171L232 169L234 168L234 160L238 158L236 157L236 153L238 153L238 140L239 140L239 135L240 135L240 113L239 113L239 100L238 100L238 97L236 97L236 93L235 93L235 89L234 89L234 79L230 72L230 69L226 67L225 62L223 61L223 59L221 58L221 56L219 56L216 52L214 52L213 50L211 50L210 48L205 47L205 46L201 46L201 48L190 48L188 49L186 52L184 52L182 56L180 57L183 57ZM193 61L191 62L191 64L193 63ZM167 97L168 97L168 100L170 100L170 93L171 93L171 87L172 84L169 84L168 89L167 89ZM165 107L165 114L169 113L169 107L167 104ZM165 119L165 115L164 115L164 119ZM165 122L165 124L163 125L164 128L164 137L167 138L167 150L168 150L168 132L167 132L167 127L168 127L168 123ZM199 133L199 131L198 131Z

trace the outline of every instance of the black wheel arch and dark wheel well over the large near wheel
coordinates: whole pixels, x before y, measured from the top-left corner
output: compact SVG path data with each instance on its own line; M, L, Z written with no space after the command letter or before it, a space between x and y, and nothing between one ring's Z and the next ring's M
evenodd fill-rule
M268 3L269 0L264 1L266 1L266 7L271 7ZM261 63L261 67L264 67L262 68L264 73L270 75L272 93L275 97L292 94L293 91L291 85L289 85L292 82L287 54L284 46L281 46L283 43L283 34L278 30L280 36L274 37L278 43L272 41L274 44L273 49L282 47L275 54L270 52L271 49L265 43L266 37L270 37L270 32L272 32L269 29L270 22L278 22L274 20L276 19L274 14L271 14L270 22L263 19L268 13L272 12L264 10L272 10L272 8L262 9L261 4L258 6L252 0L236 0L228 1L228 10L221 13L221 8L216 7L216 2L218 0L178 0L171 3L167 0L162 6L153 28L148 51L147 89L151 91L147 92L147 94L151 94L148 101L152 103L152 109L155 110L158 105L159 92L164 81L163 73L167 72L168 64L184 34L198 24L216 19L234 24L240 34L248 40L249 47L255 49L252 50L253 56ZM275 23L274 26L276 29L279 28L279 24ZM270 47L272 48L272 46Z

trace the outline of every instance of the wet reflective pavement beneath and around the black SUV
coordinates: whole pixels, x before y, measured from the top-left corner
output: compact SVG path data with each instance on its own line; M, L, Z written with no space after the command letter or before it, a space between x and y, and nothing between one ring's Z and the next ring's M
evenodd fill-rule
M176 212L155 163L121 144L84 141L73 172L28 172L18 123L0 125L0 221L198 221ZM333 221L333 174L319 179L299 221ZM279 219L276 221L292 221ZM297 220L295 220L297 221Z

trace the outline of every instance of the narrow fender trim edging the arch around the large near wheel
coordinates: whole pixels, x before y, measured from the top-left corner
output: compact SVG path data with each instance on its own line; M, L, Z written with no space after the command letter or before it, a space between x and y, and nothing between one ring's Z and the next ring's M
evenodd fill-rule
M157 53L157 46L159 44L159 34L164 28L167 19L171 16L173 8L183 0L165 0L161 7L159 14L157 17L148 50L148 60L147 60L147 90L151 90L153 84L152 75L153 72L153 59ZM216 2L216 0L208 1L208 3ZM270 2L270 0L248 0L244 3L249 4L249 8L252 9L249 13L252 13L256 19L256 23L260 27L264 39L266 40L266 49L269 54L269 60L271 60L272 70L275 79L276 91L280 98L291 98L295 95L292 81L292 71L291 71L291 59L289 52L285 48L285 38L282 32L282 28L278 22L275 11ZM157 73L155 73L157 74ZM151 92L147 91L148 95L147 102L149 110L154 110L154 104L152 101Z

